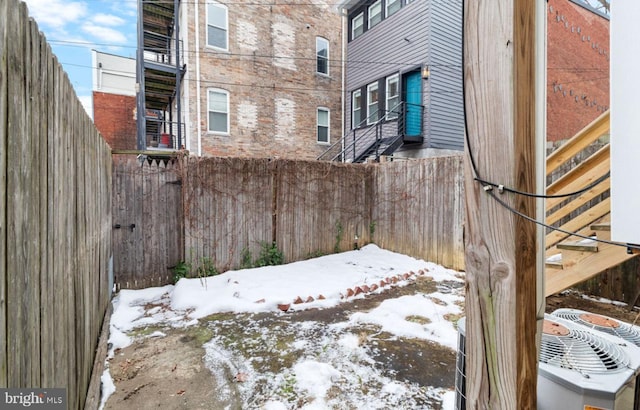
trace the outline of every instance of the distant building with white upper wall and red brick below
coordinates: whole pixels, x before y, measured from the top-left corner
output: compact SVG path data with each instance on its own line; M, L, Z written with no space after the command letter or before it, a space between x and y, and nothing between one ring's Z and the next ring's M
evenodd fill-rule
M93 120L111 149L136 148L136 60L92 51Z

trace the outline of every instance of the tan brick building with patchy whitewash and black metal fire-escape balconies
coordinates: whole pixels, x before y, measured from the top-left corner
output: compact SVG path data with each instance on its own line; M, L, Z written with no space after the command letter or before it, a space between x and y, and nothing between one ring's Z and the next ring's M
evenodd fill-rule
M196 155L315 159L341 137L335 3L176 0L140 9L147 146L150 109L170 119L170 148Z

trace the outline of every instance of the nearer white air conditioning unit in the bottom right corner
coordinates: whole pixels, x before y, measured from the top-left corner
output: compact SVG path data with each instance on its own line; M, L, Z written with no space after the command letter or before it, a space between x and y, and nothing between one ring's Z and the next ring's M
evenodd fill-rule
M545 315L538 409L639 410L640 348L619 337Z

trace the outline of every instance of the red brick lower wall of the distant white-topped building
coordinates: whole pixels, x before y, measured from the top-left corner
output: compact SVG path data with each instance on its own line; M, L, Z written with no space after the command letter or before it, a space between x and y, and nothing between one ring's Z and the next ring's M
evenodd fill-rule
M93 122L111 149L136 149L136 97L93 92Z

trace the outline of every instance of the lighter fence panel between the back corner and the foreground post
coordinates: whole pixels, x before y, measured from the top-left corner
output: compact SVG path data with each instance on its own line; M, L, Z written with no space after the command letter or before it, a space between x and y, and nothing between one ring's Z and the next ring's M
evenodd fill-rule
M375 170L373 242L464 269L462 157L382 163Z

